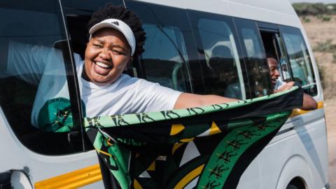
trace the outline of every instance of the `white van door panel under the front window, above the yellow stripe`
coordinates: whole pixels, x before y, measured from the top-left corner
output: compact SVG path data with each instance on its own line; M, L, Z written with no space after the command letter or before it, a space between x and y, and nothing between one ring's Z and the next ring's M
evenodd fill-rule
M0 172L6 170L22 170L28 176L31 184L55 176L97 165L95 151L76 153L72 155L41 155L23 146L6 122L6 117L0 110Z

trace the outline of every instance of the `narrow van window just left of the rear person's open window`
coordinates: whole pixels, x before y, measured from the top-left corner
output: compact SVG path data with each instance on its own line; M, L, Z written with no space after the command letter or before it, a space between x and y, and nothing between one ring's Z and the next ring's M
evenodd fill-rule
M262 47L258 28L255 22L235 18L239 38L243 42L243 54L247 67L251 93L248 98L260 97L272 92L269 69L265 63L265 51Z

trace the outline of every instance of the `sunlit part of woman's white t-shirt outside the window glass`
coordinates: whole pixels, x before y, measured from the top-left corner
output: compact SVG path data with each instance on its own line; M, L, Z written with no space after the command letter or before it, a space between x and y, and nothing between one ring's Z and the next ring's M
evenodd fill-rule
M83 62L81 62L83 63ZM122 74L111 85L96 85L81 77L78 70L80 97L87 107L86 116L111 116L125 113L172 110L181 92L144 79Z

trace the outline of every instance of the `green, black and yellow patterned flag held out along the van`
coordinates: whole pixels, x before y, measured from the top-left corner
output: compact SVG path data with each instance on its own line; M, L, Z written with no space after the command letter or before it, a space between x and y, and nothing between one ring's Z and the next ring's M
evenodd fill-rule
M85 118L85 129L114 187L236 188L300 106L295 87L228 104Z

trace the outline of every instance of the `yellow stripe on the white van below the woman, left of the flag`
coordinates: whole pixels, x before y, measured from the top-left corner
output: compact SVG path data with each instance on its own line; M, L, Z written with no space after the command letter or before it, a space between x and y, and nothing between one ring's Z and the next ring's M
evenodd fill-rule
M102 180L102 174L100 173L100 168L97 164L90 167L85 167L83 169L78 169L73 172L55 176L50 179L45 179L44 181L38 181L35 183L34 187L36 189L70 189L87 186L100 180Z

